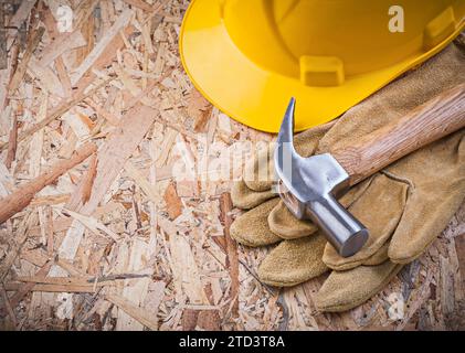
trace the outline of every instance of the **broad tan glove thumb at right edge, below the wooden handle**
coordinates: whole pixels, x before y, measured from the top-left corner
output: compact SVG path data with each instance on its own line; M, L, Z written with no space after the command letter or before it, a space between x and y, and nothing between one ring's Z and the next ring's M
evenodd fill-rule
M388 252L411 263L441 234L465 196L465 129L431 143L388 169L412 182L404 215Z

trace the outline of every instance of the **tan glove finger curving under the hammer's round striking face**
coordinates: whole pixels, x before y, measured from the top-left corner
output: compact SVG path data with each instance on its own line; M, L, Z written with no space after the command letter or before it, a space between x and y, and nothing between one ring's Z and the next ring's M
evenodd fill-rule
M370 232L363 247L357 254L341 257L329 243L323 260L335 270L346 270L363 264L391 237L399 224L405 205L408 185L377 174L367 191L349 207Z

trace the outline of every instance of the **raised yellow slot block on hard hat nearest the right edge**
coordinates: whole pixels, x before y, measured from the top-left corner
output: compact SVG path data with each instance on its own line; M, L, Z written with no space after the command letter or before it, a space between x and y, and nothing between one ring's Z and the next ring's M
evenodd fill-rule
M430 51L455 31L454 9L448 7L435 17L423 32L423 50Z

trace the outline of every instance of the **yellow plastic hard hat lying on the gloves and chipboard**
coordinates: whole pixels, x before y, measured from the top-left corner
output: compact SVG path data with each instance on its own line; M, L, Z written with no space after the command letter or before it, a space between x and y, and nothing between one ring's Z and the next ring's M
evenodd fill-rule
M465 0L192 0L180 54L218 108L276 132L346 111L441 51L465 25Z

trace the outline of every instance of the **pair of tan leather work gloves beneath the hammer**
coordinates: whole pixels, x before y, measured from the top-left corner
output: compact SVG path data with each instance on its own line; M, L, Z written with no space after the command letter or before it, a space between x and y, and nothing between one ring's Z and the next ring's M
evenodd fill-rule
M296 136L296 150L308 157L350 146L464 81L465 50L456 41L349 109L329 130L320 127ZM266 153L247 165L245 173L257 175L266 164L264 158ZM249 179L232 190L234 204L250 211L232 224L231 235L247 246L281 242L261 264L260 279L294 286L331 270L315 298L316 306L320 311L345 311L381 291L446 227L465 196L465 130L405 156L340 200L370 231L363 248L347 258L311 223L290 214L270 190L271 181Z

